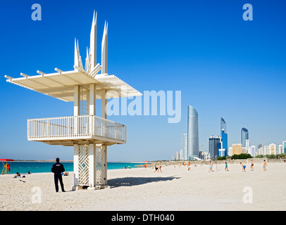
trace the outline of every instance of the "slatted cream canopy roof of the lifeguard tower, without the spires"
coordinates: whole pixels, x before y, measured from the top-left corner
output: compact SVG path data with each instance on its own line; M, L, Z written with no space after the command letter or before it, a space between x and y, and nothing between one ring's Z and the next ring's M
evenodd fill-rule
M101 89L116 91L118 97L142 96L139 91L115 75L98 74L92 77L84 70L58 71L50 74L37 71L40 75L28 76L21 74L24 77L12 78L6 76L6 78L7 82L12 84L67 102L74 101L75 85L96 84L97 99L101 98L101 92L99 91ZM114 96L114 92L107 92L107 98L111 98L111 95L113 98L117 97Z

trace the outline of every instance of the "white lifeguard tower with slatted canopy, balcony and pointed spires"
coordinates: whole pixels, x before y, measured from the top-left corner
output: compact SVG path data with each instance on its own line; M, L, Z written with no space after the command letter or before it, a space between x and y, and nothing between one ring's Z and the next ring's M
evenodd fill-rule
M20 74L20 78L5 76L11 84L62 101L74 101L73 116L27 120L28 141L73 146L74 190L82 186L89 189L105 188L107 146L126 143L125 125L107 120L107 99L142 96L115 75L108 75L107 40L108 23L105 23L100 65L97 63L97 14L94 12L90 48L87 49L85 62L82 62L78 41L75 40L74 70L55 68L56 72L50 74L37 70L39 75L35 76L24 73ZM101 117L96 113L97 99L101 99Z

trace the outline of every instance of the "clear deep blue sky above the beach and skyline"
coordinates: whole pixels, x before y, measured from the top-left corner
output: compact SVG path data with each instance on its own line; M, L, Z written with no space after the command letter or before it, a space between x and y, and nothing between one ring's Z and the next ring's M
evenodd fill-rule
M41 4L42 21L31 19ZM244 21L244 4L253 21ZM113 116L128 143L108 160L169 160L182 148L187 105L199 113L200 147L227 122L229 145L249 130L251 145L286 141L286 1L30 1L0 2L0 158L73 159L73 148L27 141L27 119L73 115L65 103L6 82L20 72L73 70L98 12L98 49L108 21L108 72L141 91L182 91L182 120ZM98 51L100 60L100 52ZM207 148L204 148L206 150Z

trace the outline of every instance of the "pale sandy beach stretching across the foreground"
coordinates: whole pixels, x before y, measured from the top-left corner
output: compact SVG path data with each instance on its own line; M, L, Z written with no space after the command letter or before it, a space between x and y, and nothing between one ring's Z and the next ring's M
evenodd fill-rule
M11 210L286 210L286 164L268 163L264 172L242 172L239 164L108 170L110 188L72 191L73 173L63 176L66 193L56 193L54 174L0 176L0 209ZM37 195L37 198L35 198ZM249 197L250 196L250 197ZM251 203L252 202L252 203Z

